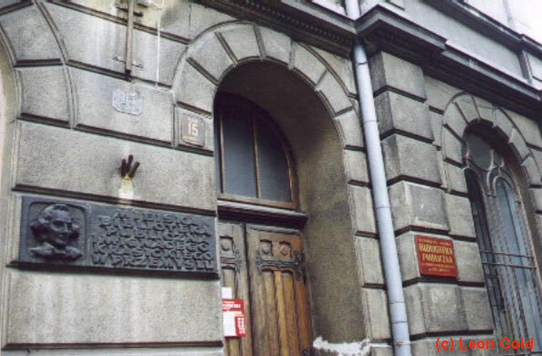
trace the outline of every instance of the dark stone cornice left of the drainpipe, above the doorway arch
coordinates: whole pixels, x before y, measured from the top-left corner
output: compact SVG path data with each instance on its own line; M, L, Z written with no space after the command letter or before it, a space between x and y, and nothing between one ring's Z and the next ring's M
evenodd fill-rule
M299 0L195 1L344 57L349 57L355 40L353 22L348 17Z

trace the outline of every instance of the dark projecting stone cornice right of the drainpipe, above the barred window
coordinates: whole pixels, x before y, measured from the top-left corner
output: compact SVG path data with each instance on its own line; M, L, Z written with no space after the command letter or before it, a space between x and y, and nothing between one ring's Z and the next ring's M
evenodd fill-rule
M409 60L424 73L458 88L537 118L541 92L526 79L509 75L447 44L446 38L377 5L355 23L369 54L383 50Z

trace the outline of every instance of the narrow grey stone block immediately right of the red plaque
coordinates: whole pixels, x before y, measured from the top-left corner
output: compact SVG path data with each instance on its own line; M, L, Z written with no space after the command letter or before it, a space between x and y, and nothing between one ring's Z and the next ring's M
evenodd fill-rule
M475 242L454 241L458 279L468 283L484 283L484 269L480 249Z

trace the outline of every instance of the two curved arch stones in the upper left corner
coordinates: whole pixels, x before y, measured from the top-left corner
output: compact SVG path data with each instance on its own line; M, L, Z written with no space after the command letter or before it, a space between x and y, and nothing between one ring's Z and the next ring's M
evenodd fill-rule
M1 17L0 40L16 68L16 116L68 125L73 116L72 83L64 65L66 51L52 21L45 6L18 8Z

